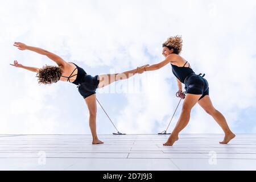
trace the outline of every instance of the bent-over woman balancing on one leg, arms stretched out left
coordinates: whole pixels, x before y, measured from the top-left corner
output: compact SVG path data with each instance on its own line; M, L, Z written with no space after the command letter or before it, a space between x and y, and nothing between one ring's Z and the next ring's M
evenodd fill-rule
M127 79L138 73L139 69L141 70L140 72L143 72L143 68L147 66L143 65L142 67L137 67L137 69L123 73L96 75L92 77L75 63L66 62L61 59L61 57L42 48L27 46L26 44L20 42L15 42L14 46L18 47L18 49L22 51L27 49L41 55L46 55L58 65L46 65L39 69L34 67L26 67L19 64L16 60L14 61L14 64L11 64L14 67L24 68L28 71L36 72L36 77L38 77L39 84L52 84L56 83L57 81L69 81L72 82L72 84L78 85L77 87L79 93L84 98L89 110L89 126L93 137L92 144L103 143L98 139L96 133L96 89L109 85L114 81Z

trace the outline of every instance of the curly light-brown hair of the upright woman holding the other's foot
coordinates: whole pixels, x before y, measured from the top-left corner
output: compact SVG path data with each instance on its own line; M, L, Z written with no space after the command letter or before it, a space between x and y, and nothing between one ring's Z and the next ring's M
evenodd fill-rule
M174 53L180 54L182 50L182 39L181 36L171 36L163 43L163 47L168 47L169 49L174 49Z

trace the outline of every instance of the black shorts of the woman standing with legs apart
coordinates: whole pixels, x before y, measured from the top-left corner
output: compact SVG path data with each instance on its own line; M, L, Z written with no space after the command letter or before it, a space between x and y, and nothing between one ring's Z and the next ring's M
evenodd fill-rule
M185 80L185 93L190 94L200 94L202 95L200 99L202 99L204 96L209 96L209 85L208 81L196 74L193 74L186 78Z

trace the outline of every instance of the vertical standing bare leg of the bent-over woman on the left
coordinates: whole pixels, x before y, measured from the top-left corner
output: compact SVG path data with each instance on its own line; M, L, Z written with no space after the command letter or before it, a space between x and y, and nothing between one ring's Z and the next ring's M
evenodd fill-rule
M96 104L96 94L85 98L86 105L88 106L89 110L89 126L90 131L92 133L93 141L92 144L101 144L101 140L98 139L96 133L96 115L97 115L97 104Z

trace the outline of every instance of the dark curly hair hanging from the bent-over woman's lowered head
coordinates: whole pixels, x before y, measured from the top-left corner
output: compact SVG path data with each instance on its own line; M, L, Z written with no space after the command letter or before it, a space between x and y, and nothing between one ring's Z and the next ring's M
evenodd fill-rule
M38 77L39 84L52 84L60 80L63 70L60 67L45 65L40 68L36 77Z

